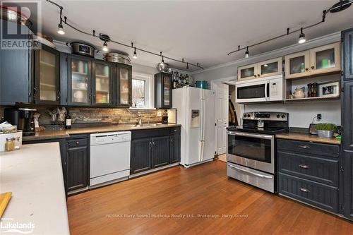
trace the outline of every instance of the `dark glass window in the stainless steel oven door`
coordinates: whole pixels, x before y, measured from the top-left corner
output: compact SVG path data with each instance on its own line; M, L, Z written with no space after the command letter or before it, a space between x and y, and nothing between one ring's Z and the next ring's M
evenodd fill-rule
M271 140L228 135L228 153L271 163Z

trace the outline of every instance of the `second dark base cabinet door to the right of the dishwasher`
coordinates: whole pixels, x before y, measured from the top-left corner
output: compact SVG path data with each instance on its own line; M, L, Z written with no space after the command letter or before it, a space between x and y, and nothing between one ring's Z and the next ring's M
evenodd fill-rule
M169 164L169 136L152 139L152 168Z

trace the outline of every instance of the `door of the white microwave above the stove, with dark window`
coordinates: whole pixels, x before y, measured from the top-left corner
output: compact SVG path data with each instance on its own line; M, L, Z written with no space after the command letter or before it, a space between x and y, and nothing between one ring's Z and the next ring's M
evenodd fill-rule
M265 102L269 100L268 80L255 83L237 84L236 103Z

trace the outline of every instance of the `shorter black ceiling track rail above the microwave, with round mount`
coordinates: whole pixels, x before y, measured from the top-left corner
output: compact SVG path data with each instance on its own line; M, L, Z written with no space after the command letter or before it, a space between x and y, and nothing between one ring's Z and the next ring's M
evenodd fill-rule
M330 13L330 12L333 12L333 13L334 13L334 12L342 11L342 10L344 10L345 8L349 7L350 4L352 4L352 3L353 3L353 0L349 0L349 1L340 1L339 3L337 3L337 4L333 5L333 6L331 6L330 8L328 8L327 10L324 10L324 11L323 11L322 20L319 21L318 23L314 23L314 24L312 24L312 25L308 25L308 26L306 26L306 27L299 28L299 29L297 29L297 30L292 30L292 31L290 31L290 28L287 28L287 33L285 33L285 34L278 35L278 36L276 36L276 37L272 37L272 38L270 38L270 39L268 39L268 40L264 40L264 41L261 41L261 42L257 42L257 43L255 43L255 44L251 44L251 45L249 45L249 46L245 46L245 47L238 46L238 49L237 49L237 50L234 50L234 51L232 51L232 52L229 52L229 53L227 54L227 56L229 56L230 54L233 54L233 53L235 53L235 52L240 52L240 51L242 51L242 50L244 50L244 49L246 49L246 51L248 52L248 49L249 49L250 47L256 47L256 46L258 46L258 45L260 45L260 44L264 44L264 43L267 43L267 42L270 42L270 41L273 41L273 40L277 40L277 39L279 39L279 38L281 38L281 37L285 37L285 36L287 36L287 35L292 35L293 33L300 32L301 30L306 30L306 29L309 29L309 28L313 28L313 27L315 27L316 25L320 25L321 23L324 23L324 22L325 22L326 15L327 15L328 13ZM249 54L249 52L248 52L248 54Z

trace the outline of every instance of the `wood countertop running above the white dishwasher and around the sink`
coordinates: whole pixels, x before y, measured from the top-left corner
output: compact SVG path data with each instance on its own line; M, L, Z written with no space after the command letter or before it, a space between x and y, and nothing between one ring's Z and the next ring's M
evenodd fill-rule
M155 129L155 128L168 128L174 126L181 126L180 124L155 124L155 125L146 125L146 126L132 126L124 124L116 124L109 126L90 126L90 127L80 127L80 128L71 128L68 130L58 130L58 131L42 131L37 132L35 135L23 136L23 141L31 140L49 140L57 138L69 138L70 135L75 134L88 134L88 133L102 133L102 132L111 132L111 131L135 131L135 130L145 130L145 129Z

